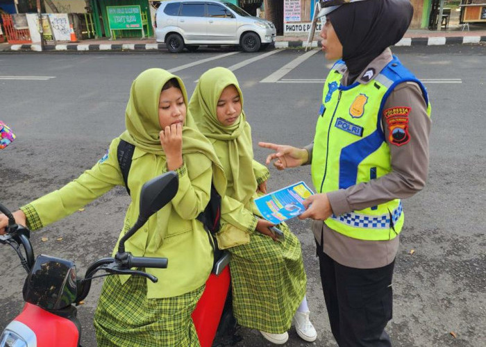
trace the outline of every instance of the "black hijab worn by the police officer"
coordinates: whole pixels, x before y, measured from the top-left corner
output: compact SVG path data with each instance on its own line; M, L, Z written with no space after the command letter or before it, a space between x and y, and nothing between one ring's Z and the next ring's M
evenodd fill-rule
M342 44L351 82L387 47L399 42L412 21L410 0L368 0L327 15Z

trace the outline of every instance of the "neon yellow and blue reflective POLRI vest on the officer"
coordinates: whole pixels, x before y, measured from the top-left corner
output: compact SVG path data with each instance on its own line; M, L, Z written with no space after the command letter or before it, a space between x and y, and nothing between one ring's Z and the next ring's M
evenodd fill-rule
M319 193L345 189L392 171L381 117L383 105L396 85L405 81L417 83L424 94L430 117L424 85L401 65L398 58L394 57L367 84L340 85L342 67L342 60L336 62L326 78L316 126L312 181ZM403 111L407 110L404 108ZM394 112L397 111L400 112L394 109ZM399 125L392 136L405 144L408 142L408 129L404 120ZM395 199L364 210L333 215L325 223L329 228L355 239L393 239L403 226L403 209L400 200Z

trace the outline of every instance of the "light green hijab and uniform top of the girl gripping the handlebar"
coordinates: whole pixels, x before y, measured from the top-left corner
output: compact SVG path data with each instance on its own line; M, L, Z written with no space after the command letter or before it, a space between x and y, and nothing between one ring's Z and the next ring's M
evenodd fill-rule
M152 109L141 111L137 102L143 103L144 108L152 105L158 110L160 90L170 78L176 76L162 69L149 69L135 79L131 101L128 102L126 110L128 131L112 140L107 155L92 169L85 171L61 189L22 207L31 230L42 228L76 212L115 185L124 185L117 160L120 138L135 144L135 151L128 174L131 203L126 211L124 228L119 238L133 226L139 214L142 185L167 171L165 154L160 151L162 146L158 139L158 120L156 122L151 119L151 126L149 121L144 119L158 117L158 113L154 115L155 110ZM183 83L180 79L178 83L187 103ZM134 115L134 112L139 114ZM160 129L160 126L158 128ZM212 268L212 246L202 223L197 221L196 217L209 201L212 180L215 181L219 194L224 196L226 179L210 142L195 129L194 121L188 112L183 127L184 164L176 170L179 178L176 196L164 208L153 214L125 243L126 251L137 257L169 259L167 269L146 269L146 272L158 278L157 283L147 280L148 298L179 296L201 287ZM118 242L113 255L117 252L117 246ZM120 278L122 283L128 280L128 276Z

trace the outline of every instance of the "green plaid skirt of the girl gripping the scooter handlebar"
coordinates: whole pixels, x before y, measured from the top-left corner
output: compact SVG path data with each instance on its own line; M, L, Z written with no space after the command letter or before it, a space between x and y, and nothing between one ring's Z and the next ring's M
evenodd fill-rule
M173 298L148 299L146 279L131 276L121 285L106 278L94 315L99 347L199 347L191 314L204 286Z

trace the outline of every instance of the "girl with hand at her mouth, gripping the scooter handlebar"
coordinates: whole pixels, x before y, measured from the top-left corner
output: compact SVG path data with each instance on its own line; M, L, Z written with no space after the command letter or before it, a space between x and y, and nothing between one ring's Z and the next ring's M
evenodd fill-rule
M180 78L162 69L142 72L131 87L126 131L112 140L108 153L71 183L14 212L17 223L37 230L124 185L117 161L117 146L124 139L135 151L128 175L131 203L121 237L137 220L142 185L169 170L178 174L171 203L125 244L134 256L167 257L169 266L146 269L158 277L157 283L140 276L106 278L94 317L98 346L199 346L191 314L212 268L212 246L196 216L208 204L212 180L221 196L226 180L186 105ZM1 214L0 234L6 225Z

